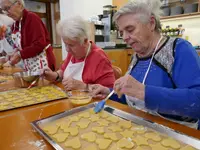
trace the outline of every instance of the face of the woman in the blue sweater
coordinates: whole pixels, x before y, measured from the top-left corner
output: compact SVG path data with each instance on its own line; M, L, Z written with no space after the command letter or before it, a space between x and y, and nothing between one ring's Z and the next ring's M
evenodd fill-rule
M142 23L136 14L125 14L118 18L117 26L123 40L130 45L135 52L144 54L147 51L154 34L154 26Z

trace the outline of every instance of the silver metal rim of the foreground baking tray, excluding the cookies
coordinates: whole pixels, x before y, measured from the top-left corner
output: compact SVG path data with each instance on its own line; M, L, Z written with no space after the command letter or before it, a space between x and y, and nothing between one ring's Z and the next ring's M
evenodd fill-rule
M31 122L31 125L56 150L63 150L63 148L59 144L57 144L49 135L47 135L40 128L40 126L43 125L43 124L51 123L52 121L55 121L55 120L58 120L58 119L61 119L61 118L64 118L64 117L67 117L67 116L70 116L70 115L73 115L73 114L76 114L76 113L79 113L81 111L85 111L85 110L88 110L90 108L94 108L96 104L97 103L95 102L95 103L92 103L92 104L89 104L89 105L86 105L86 106L77 107L77 108L59 113L59 114L56 114L56 115L53 115L53 116L50 116L50 117L47 117L47 118L44 118L44 119L36 120L36 121ZM157 131L161 134L168 135L169 137L172 137L172 138L174 138L174 139L176 139L180 142L183 142L187 145L190 145L190 146L192 146L196 149L200 149L200 140L198 140L194 137L190 137L190 136L187 136L185 134L179 133L179 132L177 132L177 131L169 128L169 127L166 127L166 126L163 126L161 124L146 120L144 118L137 117L135 115L129 114L127 112L121 111L119 109L116 109L116 108L108 106L108 105L105 105L104 111L106 111L106 112L108 112L112 115L118 116L122 119L130 120L130 121L132 121L132 123L136 123L138 125L143 125L144 127L148 127L150 129L153 129L153 130L155 130L155 131Z

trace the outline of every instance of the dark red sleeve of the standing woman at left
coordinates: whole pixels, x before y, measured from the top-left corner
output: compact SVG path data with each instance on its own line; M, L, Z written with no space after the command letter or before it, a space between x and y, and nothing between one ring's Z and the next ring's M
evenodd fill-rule
M41 19L35 14L26 17L25 24L22 26L22 59L34 57L41 53L49 44L46 41L46 29Z

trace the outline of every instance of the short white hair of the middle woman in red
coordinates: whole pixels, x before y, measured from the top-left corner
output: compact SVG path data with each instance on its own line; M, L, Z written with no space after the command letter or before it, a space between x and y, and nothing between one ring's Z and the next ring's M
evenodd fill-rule
M76 40L82 44L85 39L89 39L89 22L80 16L60 20L57 33L64 39Z

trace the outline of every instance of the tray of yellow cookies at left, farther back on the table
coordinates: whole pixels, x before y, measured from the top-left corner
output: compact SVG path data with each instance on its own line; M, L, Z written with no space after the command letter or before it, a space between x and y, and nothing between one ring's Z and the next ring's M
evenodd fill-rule
M67 98L67 94L55 85L38 86L0 92L0 111Z

